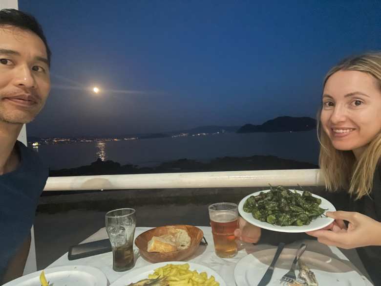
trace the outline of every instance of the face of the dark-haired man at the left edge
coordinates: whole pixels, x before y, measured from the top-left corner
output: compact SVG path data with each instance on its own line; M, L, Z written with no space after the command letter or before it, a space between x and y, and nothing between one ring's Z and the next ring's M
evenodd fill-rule
M33 32L0 26L0 122L31 122L50 90L46 48Z

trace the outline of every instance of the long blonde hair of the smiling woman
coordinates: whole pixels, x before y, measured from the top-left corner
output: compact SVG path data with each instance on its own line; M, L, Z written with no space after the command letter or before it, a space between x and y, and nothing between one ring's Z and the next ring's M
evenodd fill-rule
M365 72L376 79L381 90L381 52L367 53L341 61L332 67L324 78L323 87L331 75L339 70ZM340 151L332 145L320 124L321 108L318 111L318 140L320 143L319 165L329 191L348 189L355 199L369 195L373 187L373 176L381 159L381 133L368 144L356 160L352 151ZM380 119L381 120L381 119Z

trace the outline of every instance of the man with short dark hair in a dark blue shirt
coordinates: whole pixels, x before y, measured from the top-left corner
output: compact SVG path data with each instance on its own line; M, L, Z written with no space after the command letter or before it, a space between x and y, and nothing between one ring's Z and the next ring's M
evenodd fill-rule
M0 11L0 284L22 275L48 176L37 154L17 137L45 104L50 55L36 19L14 9Z

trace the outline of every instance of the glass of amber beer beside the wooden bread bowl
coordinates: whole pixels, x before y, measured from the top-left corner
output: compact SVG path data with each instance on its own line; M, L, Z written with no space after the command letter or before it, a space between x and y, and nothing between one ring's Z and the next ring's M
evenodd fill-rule
M238 206L231 202L218 202L209 206L215 254L232 258L237 254L234 230L238 228Z

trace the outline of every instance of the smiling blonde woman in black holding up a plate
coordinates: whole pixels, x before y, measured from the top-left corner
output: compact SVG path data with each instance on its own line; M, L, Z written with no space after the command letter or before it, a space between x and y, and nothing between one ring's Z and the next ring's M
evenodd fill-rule
M381 285L381 52L331 68L318 118L320 170L340 211L327 213L335 219L329 227L307 234L327 245L356 248L375 285ZM269 233L240 219L234 234L246 242L266 242Z

